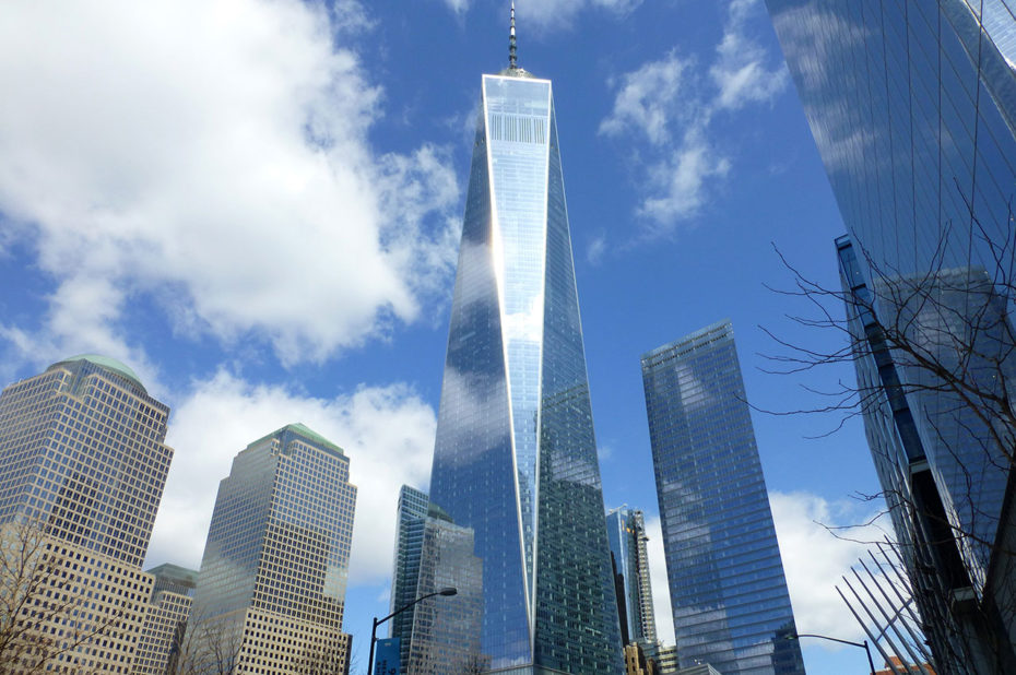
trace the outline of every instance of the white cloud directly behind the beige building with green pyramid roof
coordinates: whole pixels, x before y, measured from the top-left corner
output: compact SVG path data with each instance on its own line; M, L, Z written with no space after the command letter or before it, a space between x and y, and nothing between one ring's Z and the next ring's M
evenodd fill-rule
M252 384L221 371L197 382L174 406L167 442L175 449L147 562L201 562L218 482L233 458L259 437L302 422L341 446L357 486L350 582L390 576L399 488L425 488L435 415L402 384L361 387L334 399L307 398L279 386Z

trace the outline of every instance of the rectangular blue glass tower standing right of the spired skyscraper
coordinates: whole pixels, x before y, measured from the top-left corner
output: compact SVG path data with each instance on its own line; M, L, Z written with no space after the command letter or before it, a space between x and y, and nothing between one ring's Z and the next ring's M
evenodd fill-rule
M733 327L643 355L642 381L682 667L803 675Z

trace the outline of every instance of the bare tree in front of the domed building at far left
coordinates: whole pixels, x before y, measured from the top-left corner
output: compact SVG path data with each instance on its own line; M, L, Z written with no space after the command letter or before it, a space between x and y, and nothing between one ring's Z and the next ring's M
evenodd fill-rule
M90 571L37 523L0 525L0 675L51 670L121 628L122 608L87 590Z

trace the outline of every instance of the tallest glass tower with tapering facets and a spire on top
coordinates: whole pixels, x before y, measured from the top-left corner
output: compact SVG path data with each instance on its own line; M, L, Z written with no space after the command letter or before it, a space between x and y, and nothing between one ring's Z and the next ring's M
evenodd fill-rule
M430 498L475 534L493 672L624 671L550 80L484 75Z

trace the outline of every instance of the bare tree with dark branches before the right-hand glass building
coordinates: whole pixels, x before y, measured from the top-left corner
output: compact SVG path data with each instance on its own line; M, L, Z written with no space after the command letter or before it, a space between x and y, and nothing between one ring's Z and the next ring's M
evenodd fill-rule
M886 269L843 239L842 288L784 259L794 287L779 293L811 307L790 318L820 342L766 331L783 347L772 372L855 366L856 382L813 389L817 405L777 414L836 413L837 428L864 418L883 489L862 498L885 499L940 673L1016 672L1014 236L980 236L988 268L948 267L945 232L920 273Z

